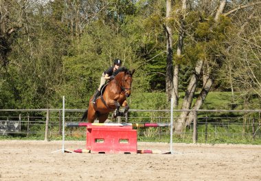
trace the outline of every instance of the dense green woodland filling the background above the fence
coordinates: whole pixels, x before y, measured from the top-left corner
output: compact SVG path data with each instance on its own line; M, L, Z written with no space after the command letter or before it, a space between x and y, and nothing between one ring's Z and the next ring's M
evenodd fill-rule
M136 69L136 93L168 92L166 67L173 63L176 89L185 92L182 109L199 109L216 88L242 90L251 95L246 100L260 96L260 2L168 1L167 17L166 2L0 1L0 106L60 107L65 95L69 107L87 107L116 57ZM190 116L181 123L190 124Z

